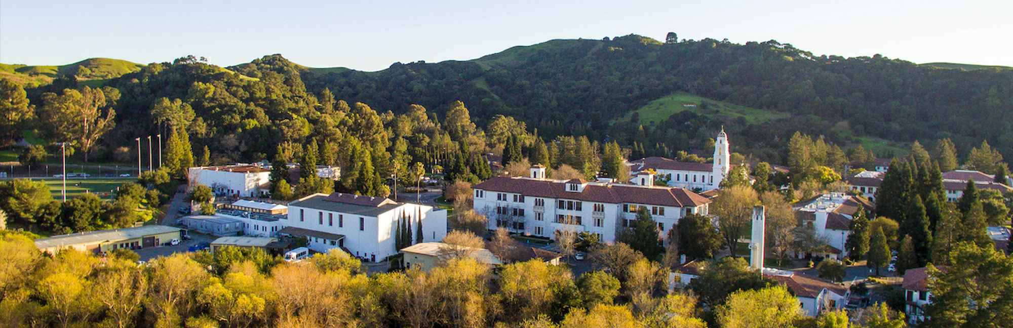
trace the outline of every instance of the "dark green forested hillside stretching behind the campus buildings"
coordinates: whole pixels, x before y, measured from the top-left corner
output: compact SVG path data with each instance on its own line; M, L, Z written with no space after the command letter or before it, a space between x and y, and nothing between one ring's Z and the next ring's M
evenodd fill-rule
M27 89L28 97L41 105L44 92L75 83L58 79ZM1013 154L1013 70L815 57L774 40L555 39L471 61L395 63L379 72L307 68L281 55L226 70L190 57L151 64L104 85L123 95L112 138L103 138L99 148L104 156L154 132L153 102L168 97L196 110L197 130L190 132L213 152L233 160L269 158L274 147L267 145L308 136L301 132L315 119L325 88L335 99L367 103L381 113L403 113L417 103L443 116L461 100L480 126L503 114L545 139L587 135L624 147L636 142L652 155L706 153L707 139L720 126L735 151L774 162L783 162L783 146L796 131L842 147L950 138L961 153L987 140ZM650 121L631 114L682 95L696 97L702 108ZM755 110L721 112L729 105Z

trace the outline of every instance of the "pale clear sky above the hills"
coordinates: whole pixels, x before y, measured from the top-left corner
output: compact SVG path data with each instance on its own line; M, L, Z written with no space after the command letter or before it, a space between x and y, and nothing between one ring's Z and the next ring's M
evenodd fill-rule
M1013 66L1013 1L0 1L0 63L282 54L381 70L468 60L552 38L777 39L816 55Z

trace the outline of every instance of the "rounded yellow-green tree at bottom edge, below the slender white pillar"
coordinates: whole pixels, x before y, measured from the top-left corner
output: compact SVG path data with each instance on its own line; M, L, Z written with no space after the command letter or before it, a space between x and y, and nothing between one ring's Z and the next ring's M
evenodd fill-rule
M798 300L783 285L731 294L717 308L717 322L724 328L789 328L801 317Z

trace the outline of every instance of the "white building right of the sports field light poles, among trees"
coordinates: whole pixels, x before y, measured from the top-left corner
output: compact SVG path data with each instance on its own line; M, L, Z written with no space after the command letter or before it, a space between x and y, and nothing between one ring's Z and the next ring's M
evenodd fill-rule
M191 167L188 187L204 184L220 195L260 197L270 192L270 170L249 164Z

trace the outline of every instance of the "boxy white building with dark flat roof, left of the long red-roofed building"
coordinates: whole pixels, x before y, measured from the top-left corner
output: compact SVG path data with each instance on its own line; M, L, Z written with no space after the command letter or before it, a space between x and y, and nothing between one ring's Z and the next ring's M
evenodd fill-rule
M281 235L302 236L309 248L343 248L368 261L398 252L395 237L401 220L410 224L412 243L441 241L447 235L447 211L387 197L316 193L289 203ZM421 232L422 238L416 237Z

